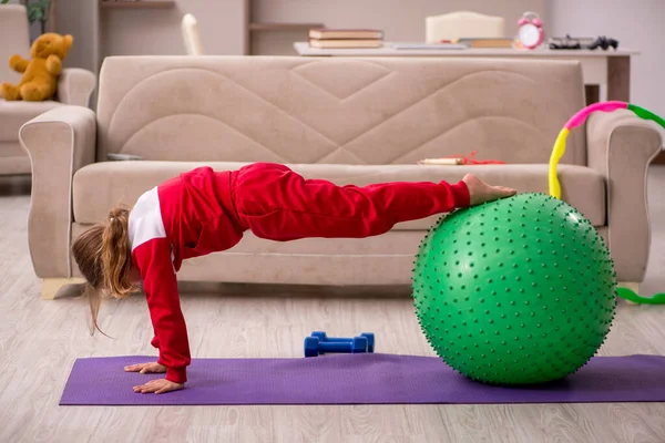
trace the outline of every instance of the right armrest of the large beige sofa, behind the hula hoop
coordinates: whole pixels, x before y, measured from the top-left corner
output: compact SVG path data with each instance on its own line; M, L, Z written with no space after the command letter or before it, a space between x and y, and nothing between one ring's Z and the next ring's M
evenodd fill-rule
M644 279L651 247L646 178L663 140L631 111L595 113L586 124L589 166L605 177L607 239L620 281Z

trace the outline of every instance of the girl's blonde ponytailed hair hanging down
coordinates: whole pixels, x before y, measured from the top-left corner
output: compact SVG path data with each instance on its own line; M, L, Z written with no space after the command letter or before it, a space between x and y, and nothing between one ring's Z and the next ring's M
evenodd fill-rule
M124 298L139 291L130 275L132 250L129 218L129 209L114 207L105 222L85 230L72 245L74 260L89 284L85 296L92 315L91 334L95 329L102 332L98 326L98 315L103 293Z

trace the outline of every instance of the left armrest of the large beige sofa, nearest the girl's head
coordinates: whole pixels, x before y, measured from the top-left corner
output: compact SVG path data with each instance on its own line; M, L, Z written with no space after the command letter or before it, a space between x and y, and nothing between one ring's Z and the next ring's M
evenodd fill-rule
M32 165L28 240L40 278L72 277L72 178L95 161L96 117L81 106L54 107L21 126Z

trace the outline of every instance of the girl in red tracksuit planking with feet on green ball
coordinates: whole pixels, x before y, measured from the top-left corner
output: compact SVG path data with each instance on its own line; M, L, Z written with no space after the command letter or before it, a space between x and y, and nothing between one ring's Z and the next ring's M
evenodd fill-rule
M358 187L305 179L288 167L255 163L238 171L198 167L143 194L132 210L114 208L105 223L83 233L72 253L88 280L93 332L101 291L123 298L142 284L156 362L125 368L165 372L134 387L163 393L184 388L191 362L176 272L183 260L229 249L250 230L287 241L306 237L362 238L387 233L400 222L510 197L473 175L457 184L396 182Z

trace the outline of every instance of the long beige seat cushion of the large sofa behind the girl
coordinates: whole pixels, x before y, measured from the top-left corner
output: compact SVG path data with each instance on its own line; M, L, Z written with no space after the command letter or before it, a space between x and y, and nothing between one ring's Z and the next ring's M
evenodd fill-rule
M133 205L139 196L161 182L190 171L209 165L217 171L237 169L244 163L235 162L101 162L79 169L73 179L74 219L89 224L103 220L114 205ZM358 186L381 182L438 182L454 183L467 173L478 175L493 185L516 188L519 192L548 193L545 164L538 165L478 165L478 166L421 166L421 165L339 165L289 164L305 178L328 179L338 185ZM603 176L591 168L561 165L559 176L562 198L595 226L605 224L605 184ZM402 223L396 229L427 229L438 218Z

